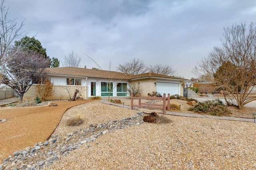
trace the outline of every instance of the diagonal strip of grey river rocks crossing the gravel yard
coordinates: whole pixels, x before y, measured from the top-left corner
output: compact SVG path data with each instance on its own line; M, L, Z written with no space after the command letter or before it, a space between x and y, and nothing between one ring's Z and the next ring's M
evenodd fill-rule
M64 139L51 135L48 141L36 143L34 147L26 147L5 158L0 170L40 170L63 158L72 150L94 142L101 135L142 123L144 123L143 113L139 111L136 115L119 121L90 124L86 129L80 128L79 131L68 133Z

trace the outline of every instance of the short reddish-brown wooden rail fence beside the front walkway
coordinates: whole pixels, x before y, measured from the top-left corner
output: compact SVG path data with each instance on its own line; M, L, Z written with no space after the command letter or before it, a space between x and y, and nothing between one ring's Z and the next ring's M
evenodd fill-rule
M138 99L139 105L134 105L133 100ZM150 103L141 103L142 99L147 100L163 100L163 104L150 104ZM146 108L152 108L152 109L163 109L164 115L166 114L166 94L163 94L163 97L148 97L148 96L141 96L139 94L139 97L134 97L133 94L131 94L131 109L133 107L146 107ZM167 96L167 111L170 111L170 94Z

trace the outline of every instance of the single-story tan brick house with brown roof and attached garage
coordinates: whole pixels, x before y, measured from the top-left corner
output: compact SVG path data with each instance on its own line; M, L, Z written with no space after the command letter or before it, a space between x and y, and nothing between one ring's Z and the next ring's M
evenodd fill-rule
M78 96L89 98L91 96L108 96L111 84L114 88L110 96L121 97L129 96L127 89L130 83L140 84L142 96L148 96L148 93L157 91L161 94L183 95L182 82L184 78L165 76L154 73L144 73L130 75L121 72L97 70L76 67L55 67L46 68L46 76L54 84L54 96L51 99L69 99L74 95L76 89L79 90ZM33 99L37 96L36 84L33 84L24 98Z

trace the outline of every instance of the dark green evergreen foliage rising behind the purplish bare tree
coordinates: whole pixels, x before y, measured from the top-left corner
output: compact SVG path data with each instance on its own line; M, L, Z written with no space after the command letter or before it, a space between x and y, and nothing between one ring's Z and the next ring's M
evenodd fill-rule
M58 67L60 66L60 61L58 58L50 58L46 54L46 49L42 47L41 42L38 39L35 39L35 37L28 37L25 36L20 41L15 41L16 47L23 47L25 51L35 51L42 55L44 58L48 59L49 65L48 67Z

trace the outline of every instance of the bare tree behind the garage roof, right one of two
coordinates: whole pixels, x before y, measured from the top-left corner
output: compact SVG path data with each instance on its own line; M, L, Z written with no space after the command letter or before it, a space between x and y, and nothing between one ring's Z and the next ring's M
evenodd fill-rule
M174 76L176 74L176 70L174 70L172 66L169 66L168 64L149 65L148 71L156 74L166 75L166 76Z

